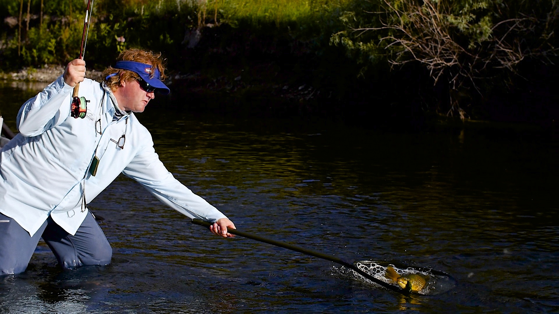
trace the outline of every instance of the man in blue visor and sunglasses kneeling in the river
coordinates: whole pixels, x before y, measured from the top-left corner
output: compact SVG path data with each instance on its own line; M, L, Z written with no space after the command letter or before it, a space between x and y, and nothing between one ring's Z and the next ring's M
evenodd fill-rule
M134 116L155 92L169 93L160 54L131 49L117 60L98 83L75 59L21 107L20 133L0 151L0 274L25 271L40 237L63 268L109 264L111 246L86 204L121 172L184 215L214 222L214 234L233 236L233 222L165 169Z

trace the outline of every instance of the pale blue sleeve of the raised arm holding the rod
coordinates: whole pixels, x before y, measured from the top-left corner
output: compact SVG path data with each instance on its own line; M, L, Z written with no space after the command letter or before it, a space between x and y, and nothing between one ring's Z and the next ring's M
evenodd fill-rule
M72 89L60 75L17 113L17 129L23 136L37 136L64 122L70 114Z

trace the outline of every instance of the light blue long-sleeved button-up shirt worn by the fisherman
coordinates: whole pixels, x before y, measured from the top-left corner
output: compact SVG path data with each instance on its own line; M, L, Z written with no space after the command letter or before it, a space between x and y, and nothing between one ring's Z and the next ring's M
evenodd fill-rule
M210 222L225 217L168 172L133 113L113 121L116 99L109 88L91 79L80 83L79 96L89 101L83 119L70 116L72 90L60 76L21 107L20 133L0 151L0 212L31 236L49 215L74 235L87 215L84 198L89 203L124 173L183 215ZM96 176L88 171L94 155Z

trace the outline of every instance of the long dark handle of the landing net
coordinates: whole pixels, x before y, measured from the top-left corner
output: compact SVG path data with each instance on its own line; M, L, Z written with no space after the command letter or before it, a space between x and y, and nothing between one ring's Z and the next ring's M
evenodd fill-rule
M213 223L211 223L211 222L203 221L203 220L200 220L198 218L193 218L192 223L194 223L195 225L200 225L200 226L205 226L205 227L210 227L211 225L213 225ZM338 263L340 265L343 265L344 267L347 267L349 269L354 270L354 272L362 275L364 278L367 278L368 280L371 280L372 282L374 282L376 284L379 284L382 287L385 287L385 288L390 289L390 290L395 291L395 292L399 292L401 294L405 294L406 296L409 296L409 294L410 294L405 289L402 289L402 288L396 287L392 284L383 282L382 280L375 278L371 274L368 274L368 273L364 272L363 270L358 268L353 263L349 263L348 261L345 261L345 260L342 260L342 259L339 259L339 258L335 258L334 256L326 255L324 253L312 251L312 250L305 249L305 248L301 248L300 246L287 244L286 242L276 241L276 240L272 240L272 239L267 239L265 237L249 234L248 232L239 231L238 229L229 228L229 229L227 229L227 232L229 232L230 234L233 234L233 235L246 237L247 239L252 239L252 240L259 241L259 242L264 242L264 243L267 243L267 244L279 246L280 248L284 248L284 249L296 251L296 252L299 252L299 253L315 256L317 258L321 258L321 259L325 259L325 260L329 260L329 261L333 261L334 263Z

